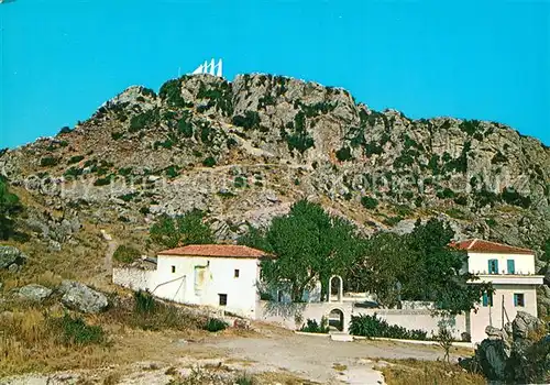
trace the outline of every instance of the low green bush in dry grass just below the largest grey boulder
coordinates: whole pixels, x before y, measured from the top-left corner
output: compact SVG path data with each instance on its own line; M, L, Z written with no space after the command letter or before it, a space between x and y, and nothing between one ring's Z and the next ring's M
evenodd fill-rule
M86 324L80 317L73 318L65 314L63 318L52 319L51 322L59 330L62 340L67 345L99 344L106 341L106 333L100 326Z

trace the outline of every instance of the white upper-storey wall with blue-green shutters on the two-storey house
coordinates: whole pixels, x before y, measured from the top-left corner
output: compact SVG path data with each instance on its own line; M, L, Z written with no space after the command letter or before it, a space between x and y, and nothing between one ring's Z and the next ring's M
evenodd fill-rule
M516 274L535 274L535 255L528 254L494 254L468 253L469 272L474 274L488 273L488 260L498 260L498 274L508 274L508 260L515 261Z

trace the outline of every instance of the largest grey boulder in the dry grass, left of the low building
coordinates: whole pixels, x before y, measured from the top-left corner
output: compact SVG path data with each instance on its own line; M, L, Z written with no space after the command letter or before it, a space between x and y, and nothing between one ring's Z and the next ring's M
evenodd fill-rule
M59 286L62 302L81 312L100 312L108 306L107 297L92 288L74 280L64 280Z

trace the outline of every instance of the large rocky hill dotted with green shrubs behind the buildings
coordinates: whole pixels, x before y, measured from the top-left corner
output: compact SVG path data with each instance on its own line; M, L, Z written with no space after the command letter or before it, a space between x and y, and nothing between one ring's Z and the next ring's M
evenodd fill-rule
M0 170L41 207L26 219L38 238L52 212L70 231L75 220L143 230L199 208L232 241L299 198L365 232L446 216L458 238L536 250L550 232L540 141L496 122L374 111L344 89L280 76L130 87L74 129L0 154Z

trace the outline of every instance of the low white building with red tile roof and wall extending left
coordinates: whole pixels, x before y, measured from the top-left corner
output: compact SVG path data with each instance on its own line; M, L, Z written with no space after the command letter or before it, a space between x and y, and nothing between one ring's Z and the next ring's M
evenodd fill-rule
M113 282L180 304L210 306L256 318L260 263L273 256L230 244L191 244L162 251L156 270L114 268Z

